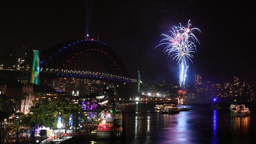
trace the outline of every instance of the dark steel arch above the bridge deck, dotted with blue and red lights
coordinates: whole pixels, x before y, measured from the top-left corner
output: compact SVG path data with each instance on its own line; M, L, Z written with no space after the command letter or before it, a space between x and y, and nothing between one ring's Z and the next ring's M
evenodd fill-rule
M57 44L40 54L42 71L73 70L129 77L118 55L99 41L81 40Z

